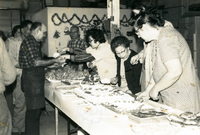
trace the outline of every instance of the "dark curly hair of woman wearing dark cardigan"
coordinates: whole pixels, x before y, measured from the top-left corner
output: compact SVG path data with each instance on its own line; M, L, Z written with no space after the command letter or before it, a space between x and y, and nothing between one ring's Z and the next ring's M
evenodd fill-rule
M125 36L117 36L111 41L111 50L115 53L115 49L119 46L124 46L125 48L130 47L130 41Z

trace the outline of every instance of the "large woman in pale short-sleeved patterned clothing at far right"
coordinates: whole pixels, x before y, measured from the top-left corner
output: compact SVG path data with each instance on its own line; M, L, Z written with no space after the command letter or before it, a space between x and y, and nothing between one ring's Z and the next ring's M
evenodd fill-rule
M150 97L173 108L197 113L200 111L200 86L189 46L173 27L156 12L144 12L135 21L139 38L151 45L149 80L146 90L138 94L144 101ZM147 60L146 60L147 61ZM145 67L147 68L147 67Z

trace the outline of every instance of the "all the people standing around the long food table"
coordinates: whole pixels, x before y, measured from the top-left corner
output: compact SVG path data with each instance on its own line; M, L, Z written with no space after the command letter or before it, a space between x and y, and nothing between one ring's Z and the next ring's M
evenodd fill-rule
M132 12L134 32L144 43L139 53L130 49L125 36L108 43L102 30L90 29L83 40L79 27L72 26L71 40L58 50L61 56L44 60L41 42L46 37L46 26L29 20L13 28L13 37L5 41L6 45L0 39L0 134L10 135L13 131L39 135L39 118L45 107L44 68L66 60L76 70L86 65L96 67L102 83L118 85L119 90L137 95L141 102L159 100L175 109L200 112L199 79L185 39L155 7L134 3ZM11 95L16 104L12 113L8 106L13 101L6 103L3 93L5 86L14 81Z

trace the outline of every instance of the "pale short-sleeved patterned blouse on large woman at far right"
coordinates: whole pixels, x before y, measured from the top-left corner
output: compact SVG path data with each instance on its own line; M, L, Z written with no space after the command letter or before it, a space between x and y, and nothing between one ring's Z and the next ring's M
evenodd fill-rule
M183 72L170 87L160 92L162 101L182 111L200 111L199 79L195 72L190 48L183 36L172 27L161 30L152 52L153 78L155 83L167 72L165 62L179 58Z

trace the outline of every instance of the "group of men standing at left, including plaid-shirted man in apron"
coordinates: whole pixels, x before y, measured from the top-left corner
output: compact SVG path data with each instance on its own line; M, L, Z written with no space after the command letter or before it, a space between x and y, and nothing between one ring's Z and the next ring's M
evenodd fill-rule
M1 135L39 135L44 67L65 63L63 58L43 60L46 32L43 23L25 20L13 28L12 37L1 39Z

